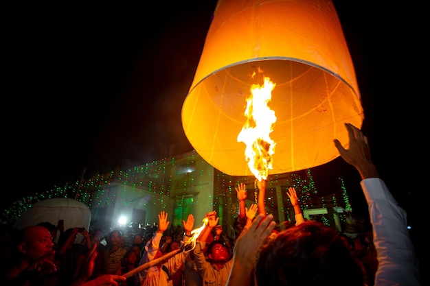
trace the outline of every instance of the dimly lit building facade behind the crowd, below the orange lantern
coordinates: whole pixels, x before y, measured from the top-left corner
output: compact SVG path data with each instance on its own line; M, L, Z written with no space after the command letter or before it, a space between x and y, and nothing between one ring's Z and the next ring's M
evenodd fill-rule
M216 211L227 235L234 237L238 217L235 187L247 188L249 205L257 202L258 191L253 176L229 176L214 169L195 151L158 160L128 170L117 169L109 180L86 192L91 197L91 224L105 229L157 224L160 211L168 213L173 226L181 226L190 213L194 226L203 225L209 211ZM83 184L81 189L85 189ZM341 180L339 188L320 197L310 170L270 175L266 182L266 213L271 213L282 228L294 220L294 211L286 191L295 187L305 218L318 219L341 231L348 211L348 195ZM122 218L122 219L121 219ZM225 227L227 226L227 227Z

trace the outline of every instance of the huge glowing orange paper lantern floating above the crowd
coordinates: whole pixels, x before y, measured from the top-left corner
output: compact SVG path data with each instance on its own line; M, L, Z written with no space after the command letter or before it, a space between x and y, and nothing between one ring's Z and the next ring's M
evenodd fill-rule
M216 169L252 175L238 134L256 73L275 84L269 174L328 163L339 156L332 140L349 142L344 123L361 128L361 95L332 1L219 0L182 107L185 135Z

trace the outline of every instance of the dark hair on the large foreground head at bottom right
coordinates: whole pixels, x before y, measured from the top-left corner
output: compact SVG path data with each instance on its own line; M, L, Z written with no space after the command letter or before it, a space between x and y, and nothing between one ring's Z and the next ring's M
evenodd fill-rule
M260 248L258 285L359 285L363 272L335 229L307 220L278 233Z

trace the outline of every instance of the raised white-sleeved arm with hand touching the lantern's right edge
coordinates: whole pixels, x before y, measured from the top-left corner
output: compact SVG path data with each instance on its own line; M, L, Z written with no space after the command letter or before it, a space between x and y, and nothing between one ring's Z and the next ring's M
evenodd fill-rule
M406 213L398 206L385 182L370 158L367 137L350 123L348 130L350 146L345 149L335 139L339 154L354 166L361 178L378 259L374 285L420 285L418 259L407 230Z

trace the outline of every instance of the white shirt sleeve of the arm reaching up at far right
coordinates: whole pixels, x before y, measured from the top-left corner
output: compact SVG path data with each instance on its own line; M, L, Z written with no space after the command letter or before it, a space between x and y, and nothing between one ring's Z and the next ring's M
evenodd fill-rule
M407 230L406 212L380 178L361 181L378 259L375 286L420 285L418 259Z

